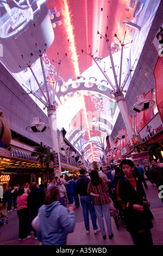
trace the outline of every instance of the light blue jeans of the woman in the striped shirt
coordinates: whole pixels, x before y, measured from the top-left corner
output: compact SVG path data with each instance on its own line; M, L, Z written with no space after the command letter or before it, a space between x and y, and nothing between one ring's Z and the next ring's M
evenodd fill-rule
M99 223L99 228L101 229L102 236L106 235L104 221L103 221L103 215L105 217L105 222L106 222L106 226L108 229L108 235L111 235L112 228L111 228L111 217L110 217L109 204L96 204L95 210L96 210L97 220Z

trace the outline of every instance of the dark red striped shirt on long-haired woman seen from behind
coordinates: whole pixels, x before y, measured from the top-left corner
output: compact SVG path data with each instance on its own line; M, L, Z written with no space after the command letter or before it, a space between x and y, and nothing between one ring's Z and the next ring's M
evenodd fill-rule
M87 194L90 194L91 192L100 195L98 198L93 197L94 204L108 204L110 202L108 186L103 179L102 183L99 183L97 186L93 186L90 181L87 186Z

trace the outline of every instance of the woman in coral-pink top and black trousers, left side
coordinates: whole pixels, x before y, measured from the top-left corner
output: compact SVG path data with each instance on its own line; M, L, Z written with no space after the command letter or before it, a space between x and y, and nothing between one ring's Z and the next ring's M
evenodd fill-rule
M30 238L30 215L27 208L28 194L24 193L24 187L20 187L17 192L17 215L19 218L18 240Z

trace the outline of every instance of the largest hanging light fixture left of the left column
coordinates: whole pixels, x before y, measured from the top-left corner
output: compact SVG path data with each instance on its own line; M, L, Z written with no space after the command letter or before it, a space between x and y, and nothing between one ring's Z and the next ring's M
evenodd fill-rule
M49 125L43 123L39 117L34 117L32 124L26 127L28 132L44 132L49 129Z

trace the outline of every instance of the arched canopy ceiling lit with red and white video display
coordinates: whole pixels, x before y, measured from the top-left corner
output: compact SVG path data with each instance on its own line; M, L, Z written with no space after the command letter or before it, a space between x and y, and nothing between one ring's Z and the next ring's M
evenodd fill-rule
M66 138L80 153L84 151L86 160L102 157L105 137L111 134L119 111L112 88L98 68L100 65L115 84L105 39L109 39L117 79L124 44L123 82L139 59L159 2L0 0L1 62L47 114L42 56L49 95L55 94L58 103L58 129L64 127ZM127 26L124 20L140 23L142 28L148 24L146 33L142 29L141 36L141 31ZM140 45L134 41L131 52L134 36ZM139 50L135 53L136 47Z

